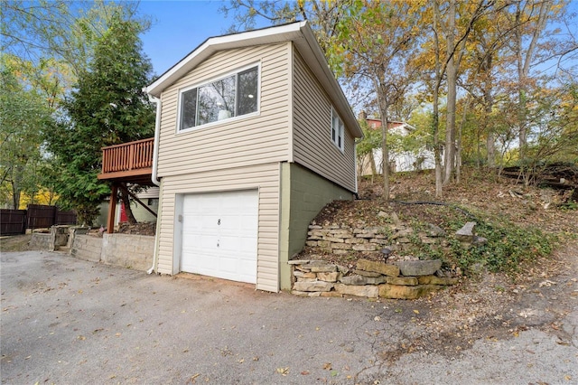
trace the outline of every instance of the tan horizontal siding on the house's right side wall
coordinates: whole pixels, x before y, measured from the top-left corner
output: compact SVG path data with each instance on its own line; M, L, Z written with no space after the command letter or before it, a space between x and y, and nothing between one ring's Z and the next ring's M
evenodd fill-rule
M331 141L331 99L294 50L294 162L355 192L355 141L345 127L344 152Z

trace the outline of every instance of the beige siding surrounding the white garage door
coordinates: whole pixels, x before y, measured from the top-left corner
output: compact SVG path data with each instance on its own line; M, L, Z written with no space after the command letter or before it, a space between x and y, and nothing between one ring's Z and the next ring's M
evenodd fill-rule
M194 192L223 192L258 189L259 222L257 234L256 288L279 290L279 164L258 164L163 178L162 226L159 232L158 272L172 274L174 257L181 250L175 238L176 201L179 195ZM174 234L175 230L177 234ZM176 254L175 254L176 253Z

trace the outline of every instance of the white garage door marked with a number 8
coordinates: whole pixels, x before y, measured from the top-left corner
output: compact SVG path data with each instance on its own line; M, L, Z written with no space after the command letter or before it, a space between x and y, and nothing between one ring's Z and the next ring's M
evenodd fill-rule
M256 190L186 195L181 270L256 283L257 212Z

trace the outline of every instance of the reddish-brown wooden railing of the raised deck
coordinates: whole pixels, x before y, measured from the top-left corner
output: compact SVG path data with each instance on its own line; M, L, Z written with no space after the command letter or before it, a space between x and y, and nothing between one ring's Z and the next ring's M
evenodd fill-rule
M153 166L154 137L102 148L102 174Z

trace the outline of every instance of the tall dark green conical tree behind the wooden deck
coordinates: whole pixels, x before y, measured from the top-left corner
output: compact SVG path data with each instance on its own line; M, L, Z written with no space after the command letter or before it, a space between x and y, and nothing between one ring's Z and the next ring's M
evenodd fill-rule
M96 218L98 204L110 192L97 179L101 147L154 134L154 108L142 90L152 71L138 37L143 26L120 13L109 25L89 69L80 72L77 88L62 103L67 119L46 132L49 149L61 164L57 191L86 223Z

